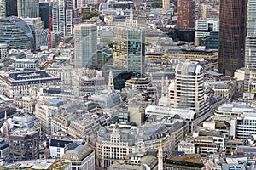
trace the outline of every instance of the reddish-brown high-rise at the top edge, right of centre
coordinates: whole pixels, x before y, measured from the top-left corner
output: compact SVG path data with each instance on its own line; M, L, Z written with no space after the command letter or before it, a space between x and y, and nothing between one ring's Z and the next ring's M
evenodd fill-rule
M177 27L179 29L195 28L195 1L178 0Z

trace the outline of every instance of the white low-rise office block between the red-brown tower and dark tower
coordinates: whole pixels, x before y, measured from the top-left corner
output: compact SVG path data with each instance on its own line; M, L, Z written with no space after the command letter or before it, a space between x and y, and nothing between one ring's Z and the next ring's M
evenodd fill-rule
M218 31L218 19L195 20L195 37L207 37L211 31Z

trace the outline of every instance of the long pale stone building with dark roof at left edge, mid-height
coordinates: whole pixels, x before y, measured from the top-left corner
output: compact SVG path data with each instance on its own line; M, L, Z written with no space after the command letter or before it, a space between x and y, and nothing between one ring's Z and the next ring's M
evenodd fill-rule
M16 94L28 96L29 89L41 85L59 85L61 78L47 74L45 71L1 72L0 82L3 86L2 94L14 98Z

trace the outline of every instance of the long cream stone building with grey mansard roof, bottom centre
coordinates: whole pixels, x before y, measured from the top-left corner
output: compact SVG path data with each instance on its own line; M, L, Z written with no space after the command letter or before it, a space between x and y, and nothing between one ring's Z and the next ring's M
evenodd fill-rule
M147 122L142 127L122 124L102 127L96 142L97 163L101 167L108 167L127 154L157 150L160 141L163 142L163 155L166 155L175 150L188 130L188 124L182 120Z

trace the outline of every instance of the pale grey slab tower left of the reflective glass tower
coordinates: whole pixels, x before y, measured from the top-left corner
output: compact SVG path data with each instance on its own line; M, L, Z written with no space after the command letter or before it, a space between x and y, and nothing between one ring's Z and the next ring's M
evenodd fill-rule
M97 26L80 24L74 26L75 67L91 68L96 66Z

